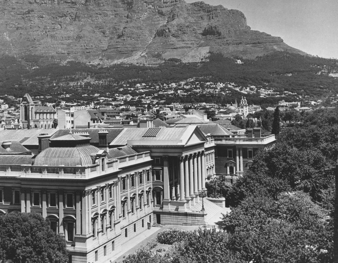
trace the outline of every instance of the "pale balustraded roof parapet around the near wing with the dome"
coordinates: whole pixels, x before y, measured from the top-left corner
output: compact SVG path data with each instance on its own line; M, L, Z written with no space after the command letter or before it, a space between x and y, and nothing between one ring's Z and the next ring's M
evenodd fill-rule
M101 164L87 166L37 166L37 165L0 165L0 176L32 177L32 178L68 178L89 179L102 174L113 173L121 167L150 161L150 152L139 153L108 160L105 169Z

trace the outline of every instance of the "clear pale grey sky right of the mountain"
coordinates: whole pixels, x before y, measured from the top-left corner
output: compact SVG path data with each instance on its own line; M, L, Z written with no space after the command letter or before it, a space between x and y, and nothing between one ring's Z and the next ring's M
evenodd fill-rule
M188 3L196 2L186 0ZM238 9L252 30L280 36L289 46L338 58L338 0L204 0Z

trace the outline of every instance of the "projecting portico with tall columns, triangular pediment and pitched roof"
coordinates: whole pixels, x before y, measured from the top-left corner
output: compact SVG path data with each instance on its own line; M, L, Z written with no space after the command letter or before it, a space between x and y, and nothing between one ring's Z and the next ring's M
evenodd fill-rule
M153 169L154 215L160 224L203 224L195 211L198 194L214 174L214 141L196 125L173 128L124 129L112 146L129 145L138 152L150 151Z

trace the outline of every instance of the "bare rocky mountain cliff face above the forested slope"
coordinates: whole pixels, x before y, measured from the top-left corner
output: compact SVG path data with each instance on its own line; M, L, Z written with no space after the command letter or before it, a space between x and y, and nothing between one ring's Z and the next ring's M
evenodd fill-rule
M200 61L209 51L301 53L252 31L238 10L183 0L3 0L0 53L101 64ZM304 53L303 53L304 54Z

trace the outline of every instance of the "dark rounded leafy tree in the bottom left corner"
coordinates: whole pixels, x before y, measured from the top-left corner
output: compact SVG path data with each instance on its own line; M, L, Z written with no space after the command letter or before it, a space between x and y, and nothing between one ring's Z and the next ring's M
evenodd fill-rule
M38 213L11 212L0 217L0 262L65 263L64 238Z

